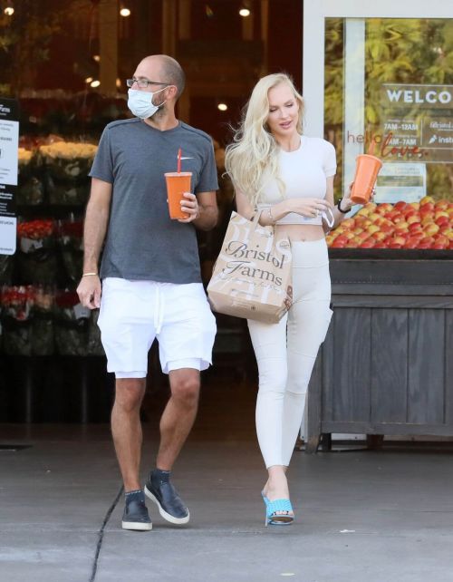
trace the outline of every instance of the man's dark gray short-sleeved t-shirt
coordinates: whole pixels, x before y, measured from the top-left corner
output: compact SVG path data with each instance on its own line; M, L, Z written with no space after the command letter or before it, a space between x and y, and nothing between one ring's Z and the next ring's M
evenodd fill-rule
M101 278L116 276L163 283L201 281L193 224L169 218L164 173L192 172L191 191L218 188L211 138L179 122L159 131L137 118L109 123L90 176L113 185Z

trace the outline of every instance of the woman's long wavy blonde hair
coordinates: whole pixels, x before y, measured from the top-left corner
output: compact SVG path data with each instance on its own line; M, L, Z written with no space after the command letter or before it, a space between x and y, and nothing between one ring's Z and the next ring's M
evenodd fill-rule
M297 131L302 134L304 119L304 100L297 92L291 77L285 73L268 74L260 79L254 87L242 121L236 130L234 141L226 147L225 168L236 189L241 190L250 203L255 206L260 198L263 174L269 179L276 179L279 189L284 194L284 184L279 179L278 150L280 146L267 128L269 116L269 91L285 83L294 93L299 104Z

